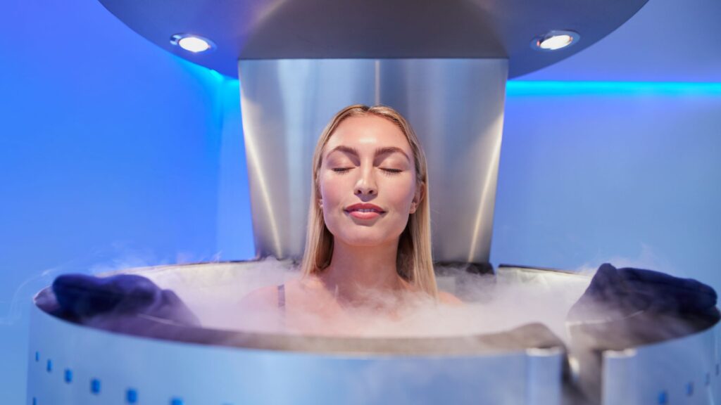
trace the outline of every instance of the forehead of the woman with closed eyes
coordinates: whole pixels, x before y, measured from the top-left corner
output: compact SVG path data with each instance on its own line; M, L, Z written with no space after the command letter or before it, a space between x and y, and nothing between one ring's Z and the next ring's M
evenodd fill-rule
M351 146L364 151L395 146L412 156L410 144L402 130L390 120L375 115L348 117L335 128L324 147L324 154L336 146Z

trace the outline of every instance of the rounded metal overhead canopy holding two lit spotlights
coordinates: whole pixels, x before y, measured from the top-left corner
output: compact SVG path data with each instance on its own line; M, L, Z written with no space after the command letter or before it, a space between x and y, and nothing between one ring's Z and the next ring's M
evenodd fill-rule
M567 58L616 30L647 0L99 0L165 50L236 76L239 59L507 58L509 77ZM528 44L549 30L580 33L553 53ZM177 33L218 45L193 54Z

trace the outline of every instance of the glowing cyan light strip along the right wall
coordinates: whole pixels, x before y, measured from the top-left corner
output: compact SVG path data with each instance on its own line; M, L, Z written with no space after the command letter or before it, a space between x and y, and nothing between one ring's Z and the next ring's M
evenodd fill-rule
M506 84L508 97L593 95L721 96L721 83L651 81L516 81Z

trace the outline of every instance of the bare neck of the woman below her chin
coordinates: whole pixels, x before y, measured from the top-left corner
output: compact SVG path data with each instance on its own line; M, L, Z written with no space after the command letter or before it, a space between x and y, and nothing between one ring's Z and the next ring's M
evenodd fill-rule
M336 239L330 264L319 278L340 302L363 301L368 290L402 290L406 282L396 270L397 254L398 239L379 246L351 246Z

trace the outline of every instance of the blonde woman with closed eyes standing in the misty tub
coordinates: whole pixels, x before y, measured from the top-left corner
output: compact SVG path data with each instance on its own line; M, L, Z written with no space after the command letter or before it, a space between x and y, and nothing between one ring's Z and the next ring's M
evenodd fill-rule
M322 334L361 330L368 311L397 318L417 298L461 303L435 284L425 155L402 115L345 107L318 140L312 174L301 277L255 290L244 307Z

